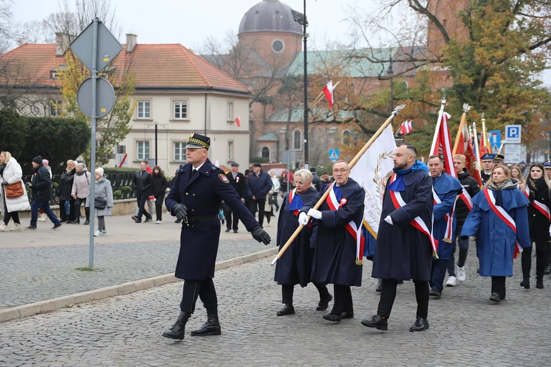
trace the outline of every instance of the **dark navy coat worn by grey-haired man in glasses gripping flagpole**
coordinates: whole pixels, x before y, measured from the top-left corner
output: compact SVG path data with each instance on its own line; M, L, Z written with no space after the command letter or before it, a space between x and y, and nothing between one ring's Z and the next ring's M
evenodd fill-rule
M323 188L322 191L325 192L327 188ZM323 202L318 209L322 213L322 219L316 220L317 240L310 280L316 283L359 287L362 265L356 265L356 240L344 225L354 221L356 226L361 226L365 191L352 178L339 188L347 203L337 210L331 210L327 202ZM301 211L308 212L321 196L322 193L317 194Z

